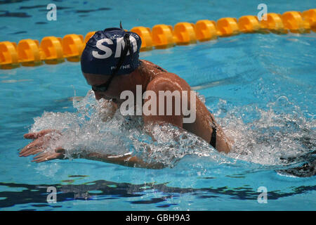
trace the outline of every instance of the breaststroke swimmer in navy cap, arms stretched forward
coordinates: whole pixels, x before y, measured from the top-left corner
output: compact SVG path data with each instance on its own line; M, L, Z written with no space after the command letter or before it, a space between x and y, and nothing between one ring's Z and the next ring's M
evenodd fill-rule
M88 40L81 55L81 71L86 82L94 91L96 100L105 98L112 102L113 108L118 109L124 102L120 98L122 91L132 91L133 94L136 94L136 85L141 85L143 93L153 91L157 94L157 102L159 102L159 91L187 91L187 93L190 93L189 84L178 75L168 72L147 60L140 60L138 58L140 45L141 39L138 34L126 32L121 28L107 28L98 31ZM219 152L230 152L231 144L223 129L207 110L204 103L197 96L195 98L196 115L194 122L184 123L183 118L187 115L184 115L183 112L177 115L175 110L171 115L166 115L166 113L159 115L159 104L157 104L157 113L152 113L152 115L143 113L144 125L159 124L159 126L162 126L163 124L172 124L179 129L185 129L199 136ZM190 97L185 99L185 101L188 101L187 105L190 105ZM146 103L149 99L143 101ZM175 106L175 101L172 101L172 108L175 109ZM164 110L166 112L166 107L164 107ZM51 134L55 134L55 136ZM34 141L20 150L20 156L39 154L34 157L32 162L64 158L65 150L62 148L56 148L55 152L45 152L48 141L52 138L58 138L58 135L62 134L51 129L25 134L25 139L34 139ZM163 167L159 163L144 162L134 155L108 155L87 151L81 153L78 157L130 167Z

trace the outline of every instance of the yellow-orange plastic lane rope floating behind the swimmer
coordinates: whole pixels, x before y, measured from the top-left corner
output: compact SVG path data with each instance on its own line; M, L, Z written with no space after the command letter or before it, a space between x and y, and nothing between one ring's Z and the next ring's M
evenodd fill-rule
M303 11L267 13L267 20L259 21L256 15L244 15L236 18L199 20L197 23L181 22L171 25L133 27L142 39L140 51L166 49L176 45L195 44L197 41L209 41L218 37L230 37L240 33L310 33L316 32L316 8ZM79 62L88 39L95 32L67 34L65 37L44 37L41 43L34 39L22 39L16 44L11 41L0 42L0 68L13 69L22 66L58 64L65 60Z

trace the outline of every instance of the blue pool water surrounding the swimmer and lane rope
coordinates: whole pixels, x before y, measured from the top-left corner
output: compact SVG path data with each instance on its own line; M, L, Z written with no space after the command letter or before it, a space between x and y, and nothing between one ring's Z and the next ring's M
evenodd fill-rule
M316 8L314 1L288 2L265 4L275 13ZM48 1L2 3L0 15L6 16L0 17L0 41L18 42L86 34L118 26L119 20L131 29L239 18L258 13L261 2L56 1L58 20L51 22L46 20ZM19 158L18 150L29 143L22 138L29 129L79 124L80 103L72 99L86 96L89 86L79 63L0 70L0 210L315 210L315 52L312 32L240 34L140 53L140 58L176 73L203 95L206 106L237 141L228 155L202 141L195 142L193 150L179 144L176 150L183 155L165 169L84 159L36 164L31 157ZM81 126L91 128L88 122ZM76 146L83 140L80 131L73 135L77 137L69 134L65 144ZM196 141L194 136L190 140ZM101 143L116 144L111 141ZM48 186L58 190L55 204L46 202ZM266 204L257 201L261 186L268 191Z

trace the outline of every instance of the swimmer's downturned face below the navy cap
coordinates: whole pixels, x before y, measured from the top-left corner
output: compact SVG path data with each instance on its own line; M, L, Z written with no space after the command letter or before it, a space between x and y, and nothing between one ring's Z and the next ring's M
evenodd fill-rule
M86 81L90 86L99 86L101 84L105 84L108 79L110 79L110 75L93 75L88 73L83 73ZM114 76L110 86L106 91L94 91L96 94L96 99L100 100L100 98L105 98L107 100L112 99L114 103L122 103L125 99L120 99L119 96L121 95L122 91L132 91L131 90L131 74L128 75L117 75Z

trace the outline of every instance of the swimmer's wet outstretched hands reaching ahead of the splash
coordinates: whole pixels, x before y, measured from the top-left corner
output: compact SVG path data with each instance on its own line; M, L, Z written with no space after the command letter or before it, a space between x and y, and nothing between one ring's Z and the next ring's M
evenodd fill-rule
M34 139L31 143L20 150L20 157L27 157L29 155L37 155L32 162L44 162L48 160L60 159L65 155L65 150L62 148L55 148L53 151L44 152L48 142L51 139L58 139L60 132L53 129L45 129L39 132L25 134L25 139Z

